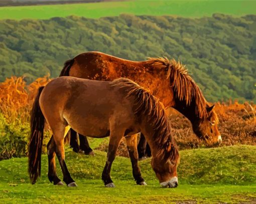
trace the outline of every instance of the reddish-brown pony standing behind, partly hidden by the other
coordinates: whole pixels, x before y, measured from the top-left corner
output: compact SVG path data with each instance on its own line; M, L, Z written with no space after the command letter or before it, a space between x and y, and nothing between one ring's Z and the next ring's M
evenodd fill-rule
M150 58L147 61L129 61L100 52L82 53L68 60L60 76L73 76L84 79L112 81L119 77L129 78L148 89L158 97L165 108L173 107L187 117L194 133L206 144L221 142L218 131L218 117L205 100L201 90L189 76L185 67L175 60ZM86 154L93 153L86 137L79 134L80 148ZM138 149L139 157L145 149ZM71 129L71 147L79 150L76 132Z

